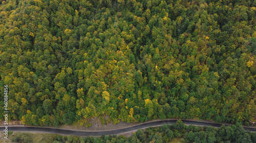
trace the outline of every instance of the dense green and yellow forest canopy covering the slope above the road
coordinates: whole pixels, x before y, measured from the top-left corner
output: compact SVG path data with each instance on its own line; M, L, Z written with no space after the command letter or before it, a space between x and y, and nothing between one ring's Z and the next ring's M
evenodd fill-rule
M0 2L11 120L256 120L255 0Z

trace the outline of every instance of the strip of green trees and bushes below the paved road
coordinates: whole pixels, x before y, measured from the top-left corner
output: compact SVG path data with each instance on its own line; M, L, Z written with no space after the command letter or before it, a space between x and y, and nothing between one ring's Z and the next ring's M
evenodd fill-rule
M30 133L17 132L11 137L12 142L21 143L32 143L31 139L33 135ZM102 135L101 137L78 137L78 136L62 136L54 135L50 138L51 143L142 143L142 142L169 142L172 139L180 138L180 142L187 143L231 143L231 142L256 142L256 132L252 133L250 131L245 131L241 124L236 124L232 126L222 126L219 129L214 127L200 127L189 125L185 126L182 121L177 121L176 124L163 125L160 127L146 128L145 130L139 129L134 132L131 136L125 137L124 135ZM35 140L34 140L35 141Z

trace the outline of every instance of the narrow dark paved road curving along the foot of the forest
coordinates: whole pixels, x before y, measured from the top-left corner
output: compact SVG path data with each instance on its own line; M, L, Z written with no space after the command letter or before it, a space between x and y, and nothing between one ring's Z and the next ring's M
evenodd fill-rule
M57 133L57 134L65 134L65 135L78 135L78 136L100 136L100 135L109 135L109 134L119 134L123 132L128 132L132 130L137 130L141 128L147 128L151 126L159 126L164 124L174 124L177 120L161 120L161 121L153 121L142 123L139 125L135 125L132 127L127 127L123 129L110 130L110 131L75 131L75 130L65 130L58 128L48 128L48 127L31 127L31 126L8 126L9 131L37 131L37 132L47 132L47 133ZM221 127L222 124L216 123L207 123L200 121L190 121L190 120L182 120L185 124L191 125L200 125L200 126L212 126L212 127ZM226 125L227 126L227 125ZM256 131L256 128L244 127L245 130ZM4 127L0 127L0 131L3 131Z

